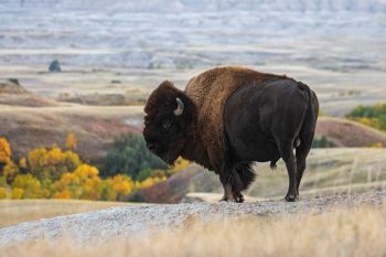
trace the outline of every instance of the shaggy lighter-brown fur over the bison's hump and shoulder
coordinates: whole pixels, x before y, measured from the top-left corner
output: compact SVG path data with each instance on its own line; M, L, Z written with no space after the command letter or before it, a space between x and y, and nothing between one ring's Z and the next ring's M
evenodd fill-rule
M280 78L287 76L259 73L244 67L217 67L192 78L185 94L196 106L197 116L191 131L196 131L197 135L195 140L185 146L182 157L200 157L197 163L219 172L226 151L223 119L226 99L238 87L250 85L251 81L264 83Z

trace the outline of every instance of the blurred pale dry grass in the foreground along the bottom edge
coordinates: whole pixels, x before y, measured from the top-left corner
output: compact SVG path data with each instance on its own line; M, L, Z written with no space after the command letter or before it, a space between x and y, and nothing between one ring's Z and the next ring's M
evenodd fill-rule
M176 231L79 244L71 239L4 247L1 256L385 256L386 207L336 208L321 214L239 217Z

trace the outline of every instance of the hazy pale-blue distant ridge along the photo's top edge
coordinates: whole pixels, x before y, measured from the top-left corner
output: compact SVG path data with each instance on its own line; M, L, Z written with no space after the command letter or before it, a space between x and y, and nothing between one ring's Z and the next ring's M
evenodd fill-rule
M384 0L2 0L1 9L100 9L125 12L175 12L175 11L354 11L385 12Z

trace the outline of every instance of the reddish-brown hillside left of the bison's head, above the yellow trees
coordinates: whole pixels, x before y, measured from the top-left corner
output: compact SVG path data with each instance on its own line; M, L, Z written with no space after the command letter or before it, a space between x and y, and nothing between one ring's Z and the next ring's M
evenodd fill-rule
M18 158L37 147L64 146L73 132L82 158L98 164L116 137L141 131L137 124L130 124L141 113L142 107L126 106L0 106L0 136L8 138Z

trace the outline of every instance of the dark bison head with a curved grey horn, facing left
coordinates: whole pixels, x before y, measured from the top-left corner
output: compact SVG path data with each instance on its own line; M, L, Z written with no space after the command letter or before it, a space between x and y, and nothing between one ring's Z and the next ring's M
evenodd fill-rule
M195 117L193 101L165 81L151 93L144 113L143 137L147 147L172 164L183 150L187 127Z

